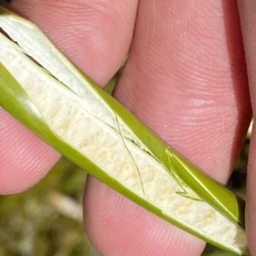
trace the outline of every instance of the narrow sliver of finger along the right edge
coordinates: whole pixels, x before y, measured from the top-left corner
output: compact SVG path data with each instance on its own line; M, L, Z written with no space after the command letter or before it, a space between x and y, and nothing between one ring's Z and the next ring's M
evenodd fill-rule
M247 74L251 93L251 102L253 108L253 118L256 117L256 3L254 1L238 1L241 28L244 40L245 55L247 60ZM247 168L247 235L251 255L256 255L256 131L253 126L251 146L249 152L248 168Z

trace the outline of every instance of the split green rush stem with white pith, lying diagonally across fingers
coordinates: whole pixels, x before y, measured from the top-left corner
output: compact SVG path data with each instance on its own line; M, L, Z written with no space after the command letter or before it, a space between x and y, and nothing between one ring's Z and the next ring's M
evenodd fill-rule
M0 8L0 105L131 201L248 255L244 201L154 135L30 21Z

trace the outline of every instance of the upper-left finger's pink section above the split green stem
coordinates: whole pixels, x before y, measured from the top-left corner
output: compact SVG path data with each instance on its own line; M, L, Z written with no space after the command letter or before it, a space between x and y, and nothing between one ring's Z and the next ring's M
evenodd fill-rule
M91 79L104 85L130 47L137 0L15 0L10 8L37 24Z

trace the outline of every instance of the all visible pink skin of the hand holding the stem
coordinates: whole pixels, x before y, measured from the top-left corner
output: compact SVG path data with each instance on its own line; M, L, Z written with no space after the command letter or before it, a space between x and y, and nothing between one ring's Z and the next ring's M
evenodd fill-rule
M10 8L38 24L98 84L108 82L130 49L114 96L204 172L227 182L256 111L255 1L14 0ZM38 183L60 154L2 108L0 127L0 194L19 193ZM255 154L253 130L252 255ZM104 256L199 256L205 246L93 177L85 187L84 223Z

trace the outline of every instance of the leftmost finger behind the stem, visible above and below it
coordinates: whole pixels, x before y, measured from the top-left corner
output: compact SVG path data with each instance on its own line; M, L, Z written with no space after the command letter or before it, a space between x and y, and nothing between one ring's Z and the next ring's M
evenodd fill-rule
M11 9L42 27L85 73L106 84L129 49L137 3L17 0ZM0 112L0 194L12 194L37 183L60 155Z

